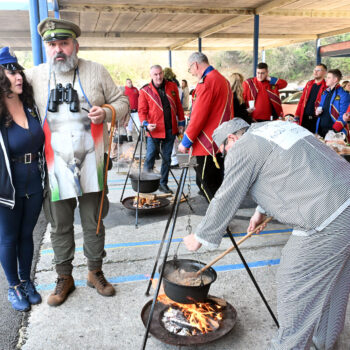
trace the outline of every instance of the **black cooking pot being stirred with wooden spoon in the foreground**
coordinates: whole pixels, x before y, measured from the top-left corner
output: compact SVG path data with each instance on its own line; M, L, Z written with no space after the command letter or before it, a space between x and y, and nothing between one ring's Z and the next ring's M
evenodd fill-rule
M164 293L168 298L181 304L193 304L203 302L207 299L210 285L216 280L216 271L209 267L203 272L203 278L207 283L199 286L186 286L177 282L170 281L168 276L176 270L184 270L186 272L197 272L206 264L190 259L174 259L165 263L163 284ZM161 267L160 267L161 269ZM176 272L175 272L176 273ZM185 273L186 275L186 273Z

